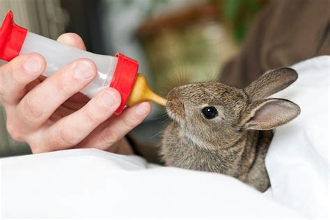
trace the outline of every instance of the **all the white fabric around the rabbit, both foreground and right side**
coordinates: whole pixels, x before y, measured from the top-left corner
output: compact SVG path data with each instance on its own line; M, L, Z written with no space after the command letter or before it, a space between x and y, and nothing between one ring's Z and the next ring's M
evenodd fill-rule
M0 159L1 217L329 217L329 63L322 56L294 65L299 79L274 95L299 104L301 116L275 131L264 194L219 173L63 150Z

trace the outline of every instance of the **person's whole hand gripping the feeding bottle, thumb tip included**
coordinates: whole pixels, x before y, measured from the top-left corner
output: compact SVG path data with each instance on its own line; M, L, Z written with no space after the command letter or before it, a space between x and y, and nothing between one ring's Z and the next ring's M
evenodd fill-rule
M74 33L58 42L86 49ZM41 75L46 65L40 54L22 54L0 66L0 101L10 136L29 143L33 153L97 148L132 154L125 135L148 116L150 104L114 116L120 104L116 89L105 88L92 99L79 93L97 74L93 61L80 58L48 78Z

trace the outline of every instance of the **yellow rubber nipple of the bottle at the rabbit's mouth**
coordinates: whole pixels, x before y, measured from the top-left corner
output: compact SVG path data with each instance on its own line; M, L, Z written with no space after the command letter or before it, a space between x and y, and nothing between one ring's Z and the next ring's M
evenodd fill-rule
M143 74L137 74L131 95L127 100L127 105L132 106L143 101L155 102L159 105L166 106L167 100L154 93L148 86L148 82Z

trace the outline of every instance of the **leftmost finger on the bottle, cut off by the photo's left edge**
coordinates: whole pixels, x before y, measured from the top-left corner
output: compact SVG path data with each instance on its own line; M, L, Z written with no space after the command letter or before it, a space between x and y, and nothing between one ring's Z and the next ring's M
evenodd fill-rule
M45 59L39 54L17 56L0 67L0 97L4 104L17 104L26 93L26 85L45 70Z

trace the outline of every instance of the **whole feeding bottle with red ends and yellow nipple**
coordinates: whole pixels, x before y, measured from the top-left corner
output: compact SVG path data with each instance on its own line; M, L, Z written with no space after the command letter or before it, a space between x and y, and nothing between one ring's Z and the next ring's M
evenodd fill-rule
M0 59L11 61L19 54L28 53L38 53L45 58L45 77L77 58L90 58L97 66L97 76L81 93L92 98L103 88L116 88L122 98L116 114L126 105L132 106L142 101L166 105L166 100L153 93L143 75L137 73L139 63L132 58L119 53L116 56L93 54L31 33L15 24L13 13L8 11L0 29Z

